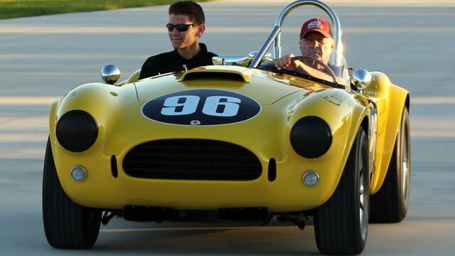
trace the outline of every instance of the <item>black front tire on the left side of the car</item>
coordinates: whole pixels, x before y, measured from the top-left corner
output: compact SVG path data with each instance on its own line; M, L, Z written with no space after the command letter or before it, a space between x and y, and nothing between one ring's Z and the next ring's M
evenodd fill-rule
M80 206L63 191L49 139L43 171L43 223L49 245L60 249L92 247L101 223L101 210Z

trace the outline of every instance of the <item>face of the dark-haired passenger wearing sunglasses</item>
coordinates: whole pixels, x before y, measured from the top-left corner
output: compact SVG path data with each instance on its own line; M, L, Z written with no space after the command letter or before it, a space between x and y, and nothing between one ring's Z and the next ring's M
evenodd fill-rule
M172 25L177 24L193 24L187 15L174 15L169 16L169 23ZM199 26L190 26L187 31L178 31L173 28L173 31L168 31L169 38L171 39L172 47L176 49L184 49L198 43L198 28Z

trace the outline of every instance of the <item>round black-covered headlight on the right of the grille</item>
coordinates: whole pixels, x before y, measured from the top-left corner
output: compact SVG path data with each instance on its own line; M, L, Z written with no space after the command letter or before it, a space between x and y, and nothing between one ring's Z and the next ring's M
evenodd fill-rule
M314 159L326 154L332 144L332 132L326 121L309 116L294 124L290 139L297 154Z

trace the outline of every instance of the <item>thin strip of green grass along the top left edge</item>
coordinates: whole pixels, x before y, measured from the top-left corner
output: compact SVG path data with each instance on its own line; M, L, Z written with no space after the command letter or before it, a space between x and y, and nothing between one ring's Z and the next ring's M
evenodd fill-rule
M157 6L176 1L178 0L0 0L0 19Z

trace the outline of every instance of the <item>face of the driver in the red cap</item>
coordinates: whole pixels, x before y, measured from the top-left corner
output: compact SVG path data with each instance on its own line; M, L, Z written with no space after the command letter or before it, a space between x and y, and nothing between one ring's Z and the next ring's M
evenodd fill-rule
M309 56L328 63L328 58L335 46L332 38L326 38L323 34L312 31L306 33L304 38L300 39L300 51L304 56Z

